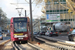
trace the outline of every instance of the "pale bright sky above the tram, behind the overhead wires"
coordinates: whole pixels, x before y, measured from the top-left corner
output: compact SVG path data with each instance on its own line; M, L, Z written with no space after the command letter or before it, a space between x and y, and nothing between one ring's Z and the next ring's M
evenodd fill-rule
M29 0L27 1L29 2ZM26 3L26 4L16 4L16 3ZM23 8L21 17L25 16L25 10L27 12L26 13L27 16L30 17L30 7L25 0L0 0L0 7L7 14L6 16L9 19L12 17L19 17L18 11L21 12L21 9L16 9L16 8ZM33 19L40 18L40 16L42 15L41 9L42 9L42 4L39 5L36 5L34 3L32 4Z

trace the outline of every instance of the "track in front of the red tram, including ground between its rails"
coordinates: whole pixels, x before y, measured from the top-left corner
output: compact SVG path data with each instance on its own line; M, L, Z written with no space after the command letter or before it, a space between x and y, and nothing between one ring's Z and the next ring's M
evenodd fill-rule
M17 44L13 42L13 50L43 50L43 49L29 42L26 44Z

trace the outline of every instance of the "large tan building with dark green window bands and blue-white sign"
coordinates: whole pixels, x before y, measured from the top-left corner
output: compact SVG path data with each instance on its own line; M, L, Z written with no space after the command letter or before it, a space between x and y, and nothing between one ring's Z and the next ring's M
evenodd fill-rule
M46 14L42 22L45 26L52 27L53 23L57 22L65 22L68 26L74 25L75 15L69 9L66 0L45 0L42 12Z

